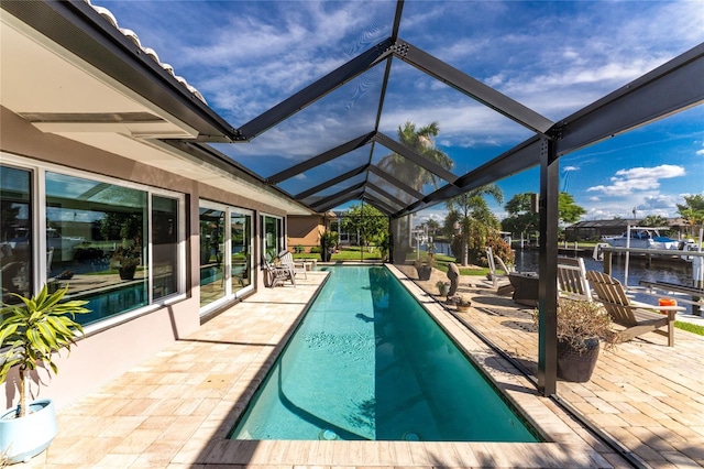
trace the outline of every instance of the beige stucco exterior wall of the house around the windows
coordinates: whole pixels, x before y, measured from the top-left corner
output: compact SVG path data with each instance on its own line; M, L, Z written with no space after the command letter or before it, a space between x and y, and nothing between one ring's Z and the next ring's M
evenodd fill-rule
M185 226L187 269L185 297L167 306L152 305L145 313L124 321L99 328L78 341L67 359L63 353L56 361L59 373L52 378L51 385L42 386L41 396L55 400L57 406L89 393L108 380L123 373L141 360L153 356L168 343L198 329L200 325L199 291L199 200L228 204L254 210L254 220L261 211L285 216L279 208L251 200L241 195L211 187L164 168L128 160L88 145L42 133L10 110L2 108L0 120L0 151L28 162L44 162L97 175L140 183L185 194ZM0 163L6 164L1 161ZM256 254L257 222L254 222L254 261ZM191 261L193 260L193 261ZM261 285L258 269L254 269L254 287ZM98 323L98 326L100 323ZM46 381L45 381L46 382ZM6 396L6 407L16 402L13 380L0 385ZM33 385L36 391L36 385Z

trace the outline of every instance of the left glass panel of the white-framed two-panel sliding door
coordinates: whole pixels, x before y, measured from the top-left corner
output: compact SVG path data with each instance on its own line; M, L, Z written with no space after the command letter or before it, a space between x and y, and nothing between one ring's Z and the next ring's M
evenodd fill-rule
M200 306L224 297L224 211L200 207Z

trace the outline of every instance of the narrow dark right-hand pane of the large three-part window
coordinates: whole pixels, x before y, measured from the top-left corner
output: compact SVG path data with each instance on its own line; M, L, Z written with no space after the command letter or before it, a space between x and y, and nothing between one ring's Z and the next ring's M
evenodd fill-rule
M178 292L178 200L152 196L152 295Z

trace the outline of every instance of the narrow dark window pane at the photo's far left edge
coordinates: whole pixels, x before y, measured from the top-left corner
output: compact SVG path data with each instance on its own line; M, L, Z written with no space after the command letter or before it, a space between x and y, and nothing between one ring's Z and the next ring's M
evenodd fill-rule
M32 173L0 166L0 281L2 303L32 292Z

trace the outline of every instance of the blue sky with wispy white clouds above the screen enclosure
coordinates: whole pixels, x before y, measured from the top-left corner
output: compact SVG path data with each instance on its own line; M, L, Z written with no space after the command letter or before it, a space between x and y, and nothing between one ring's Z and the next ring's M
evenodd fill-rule
M108 8L235 128L388 37L395 9L393 1L92 4ZM704 0L410 0L399 36L558 121L704 42ZM251 143L213 146L267 177L373 130L382 76L373 68ZM380 129L393 137L406 121L438 122L435 144L455 161L457 175L532 135L395 61ZM373 161L383 157L375 153ZM369 153L338 159L283 187L297 194L364 159ZM704 105L565 155L560 174L561 190L586 210L583 219L675 217L684 196L704 194ZM497 184L505 204L538 192L539 173ZM506 216L503 204L488 201ZM444 211L436 206L417 218L440 220Z

